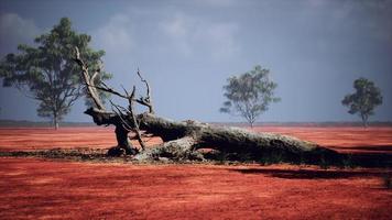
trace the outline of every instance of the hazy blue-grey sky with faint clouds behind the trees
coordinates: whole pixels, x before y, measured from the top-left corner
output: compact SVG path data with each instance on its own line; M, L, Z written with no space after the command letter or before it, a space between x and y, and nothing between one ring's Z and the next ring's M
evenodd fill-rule
M358 120L340 100L359 77L384 96L370 120L392 121L391 0L0 0L0 56L63 16L106 51L110 85L142 92L141 69L160 116L239 121L218 111L222 86L261 65L282 101L259 121ZM12 88L0 88L0 119L42 120L36 102ZM76 103L65 120L90 121L84 110Z

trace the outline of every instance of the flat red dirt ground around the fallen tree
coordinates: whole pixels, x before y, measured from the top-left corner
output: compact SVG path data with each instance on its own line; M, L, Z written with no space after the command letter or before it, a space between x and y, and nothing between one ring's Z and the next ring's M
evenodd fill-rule
M392 153L392 128L255 130L344 152ZM0 151L113 145L111 129L0 129ZM0 219L392 219L388 174L388 168L0 157Z

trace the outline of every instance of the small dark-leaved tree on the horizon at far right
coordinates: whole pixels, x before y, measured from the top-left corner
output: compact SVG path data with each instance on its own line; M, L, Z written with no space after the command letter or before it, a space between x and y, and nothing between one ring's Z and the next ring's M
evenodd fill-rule
M358 113L363 127L367 127L369 116L374 114L374 108L382 105L381 91L373 81L366 78L356 79L353 88L356 92L347 95L341 103L349 108L350 114Z

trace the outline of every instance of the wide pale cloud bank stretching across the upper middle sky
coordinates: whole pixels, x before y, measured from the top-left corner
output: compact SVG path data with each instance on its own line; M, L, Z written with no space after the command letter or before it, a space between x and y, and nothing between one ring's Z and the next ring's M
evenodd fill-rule
M240 52L239 26L233 22L210 21L172 7L130 11L112 16L92 31L94 44L108 55L173 52L185 57L196 55L220 61Z

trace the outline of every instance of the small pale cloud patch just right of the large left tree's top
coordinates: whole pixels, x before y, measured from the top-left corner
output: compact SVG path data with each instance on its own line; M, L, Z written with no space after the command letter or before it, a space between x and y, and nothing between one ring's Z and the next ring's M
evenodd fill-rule
M130 16L117 14L100 29L94 31L92 41L100 48L113 54L130 52L133 47Z

